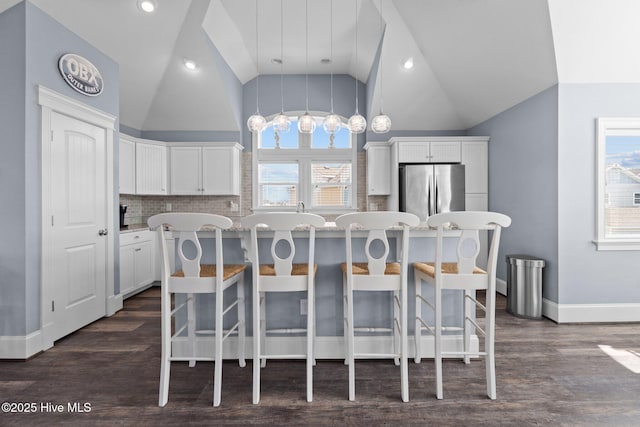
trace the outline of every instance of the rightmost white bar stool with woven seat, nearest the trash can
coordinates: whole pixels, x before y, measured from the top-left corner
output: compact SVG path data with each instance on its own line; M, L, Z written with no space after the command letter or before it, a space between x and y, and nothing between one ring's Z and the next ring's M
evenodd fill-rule
M436 397L443 398L442 391L442 358L446 356L462 357L464 363L470 363L470 358L484 357L487 377L487 395L496 398L495 372L495 303L496 303L496 264L500 245L500 231L502 227L511 224L511 218L495 212L447 212L436 214L427 220L427 224L437 228L435 262L417 262L413 264L416 290L416 363L422 357L422 331L427 330L435 336L434 361L436 370ZM445 262L443 254L443 240L445 230L459 230L455 262ZM483 230L493 232L489 246L489 257L486 271L476 266L480 253L480 235ZM422 281L434 287L432 301L422 296ZM463 291L463 350L442 351L443 330L459 329L442 325L442 293L448 290ZM486 290L485 304L475 298L476 290ZM435 312L435 325L429 325L422 317L422 306L426 304ZM485 313L484 328L481 328L475 318L476 307ZM471 329L484 336L484 351L471 351Z

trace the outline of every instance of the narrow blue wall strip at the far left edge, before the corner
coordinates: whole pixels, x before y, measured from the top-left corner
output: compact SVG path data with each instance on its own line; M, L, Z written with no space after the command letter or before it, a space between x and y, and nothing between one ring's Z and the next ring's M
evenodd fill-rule
M26 331L24 23L24 3L0 14L0 336Z

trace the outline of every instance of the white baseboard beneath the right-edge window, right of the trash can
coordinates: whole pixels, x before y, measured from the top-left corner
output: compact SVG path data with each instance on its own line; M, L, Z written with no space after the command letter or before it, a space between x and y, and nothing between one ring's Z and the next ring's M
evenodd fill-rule
M557 323L640 322L640 304L558 304L543 299L542 315Z

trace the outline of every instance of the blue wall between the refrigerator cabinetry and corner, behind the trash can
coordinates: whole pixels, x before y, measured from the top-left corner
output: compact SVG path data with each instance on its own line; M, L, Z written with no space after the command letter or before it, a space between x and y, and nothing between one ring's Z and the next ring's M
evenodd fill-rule
M506 280L507 254L543 258L543 296L558 302L558 87L509 108L468 134L491 137L489 209L512 219L502 234L498 277Z

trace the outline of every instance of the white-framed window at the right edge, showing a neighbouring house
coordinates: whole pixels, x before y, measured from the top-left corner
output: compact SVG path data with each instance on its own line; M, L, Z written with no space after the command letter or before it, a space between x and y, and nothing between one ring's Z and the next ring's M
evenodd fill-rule
M640 250L640 118L598 119L598 250Z

